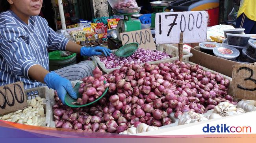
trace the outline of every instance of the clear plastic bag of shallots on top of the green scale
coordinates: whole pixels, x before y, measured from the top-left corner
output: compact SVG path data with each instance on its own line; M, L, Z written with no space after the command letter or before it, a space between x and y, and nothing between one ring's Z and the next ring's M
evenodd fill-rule
M108 0L113 9L125 9L138 7L136 0Z

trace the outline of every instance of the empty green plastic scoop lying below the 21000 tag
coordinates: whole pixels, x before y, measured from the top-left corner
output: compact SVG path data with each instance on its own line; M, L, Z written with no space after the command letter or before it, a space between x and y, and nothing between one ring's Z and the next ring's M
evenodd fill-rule
M124 45L115 52L115 55L119 57L131 56L135 51L137 51L138 47L139 47L138 43L130 43L130 44Z

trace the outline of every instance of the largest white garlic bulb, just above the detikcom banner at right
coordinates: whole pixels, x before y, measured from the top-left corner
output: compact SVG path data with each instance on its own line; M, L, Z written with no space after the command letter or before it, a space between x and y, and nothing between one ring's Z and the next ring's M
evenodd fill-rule
M214 107L213 113L219 114L222 117L232 116L236 114L245 113L245 111L241 108L236 108L233 104L228 102L219 103Z

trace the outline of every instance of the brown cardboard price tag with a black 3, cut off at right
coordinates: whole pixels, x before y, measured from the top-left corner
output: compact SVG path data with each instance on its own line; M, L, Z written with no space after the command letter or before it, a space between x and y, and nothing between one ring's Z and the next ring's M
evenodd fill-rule
M232 77L236 98L256 100L256 65L234 65Z

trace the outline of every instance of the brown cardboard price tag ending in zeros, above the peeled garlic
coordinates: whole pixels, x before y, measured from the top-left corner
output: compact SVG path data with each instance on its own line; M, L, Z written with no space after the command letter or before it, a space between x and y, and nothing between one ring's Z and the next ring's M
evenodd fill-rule
M0 87L0 115L27 107L23 82Z

